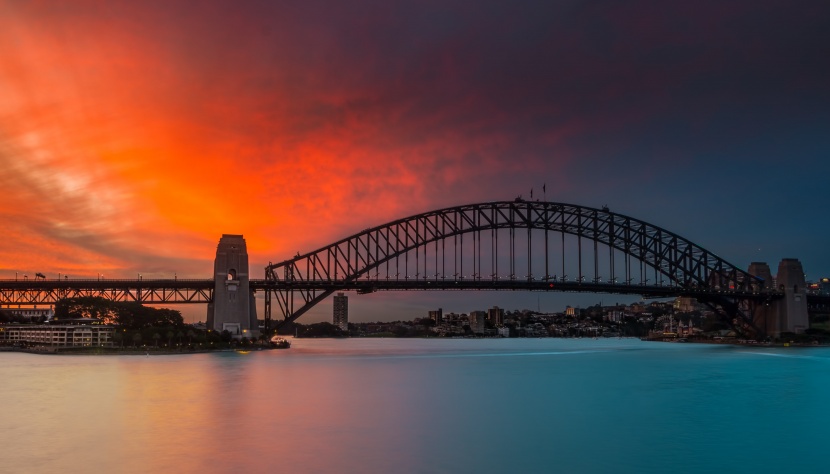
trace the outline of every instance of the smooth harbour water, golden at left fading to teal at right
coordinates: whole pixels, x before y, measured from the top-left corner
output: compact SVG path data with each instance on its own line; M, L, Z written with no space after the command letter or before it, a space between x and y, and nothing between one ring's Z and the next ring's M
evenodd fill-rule
M299 339L0 353L0 472L827 472L830 349Z

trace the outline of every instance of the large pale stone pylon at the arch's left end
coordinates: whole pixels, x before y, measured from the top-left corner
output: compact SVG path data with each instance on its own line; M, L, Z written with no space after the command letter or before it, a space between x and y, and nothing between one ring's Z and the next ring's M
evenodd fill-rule
M208 329L228 331L237 339L258 337L256 303L248 276L248 248L241 235L222 234L213 268L213 303L208 305Z

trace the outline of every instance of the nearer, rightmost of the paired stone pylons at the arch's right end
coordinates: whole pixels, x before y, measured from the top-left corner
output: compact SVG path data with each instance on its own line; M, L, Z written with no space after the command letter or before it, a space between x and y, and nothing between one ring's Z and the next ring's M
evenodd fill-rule
M807 315L807 282L804 268L796 258L785 258L778 264L776 278L784 298L776 302L780 332L803 333L810 327Z

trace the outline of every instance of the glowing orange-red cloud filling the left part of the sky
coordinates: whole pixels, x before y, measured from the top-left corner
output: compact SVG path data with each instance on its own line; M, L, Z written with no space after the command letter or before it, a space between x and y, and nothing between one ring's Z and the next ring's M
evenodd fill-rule
M222 233L244 234L264 265L438 205L511 197L487 184L544 164L500 158L514 139L493 125L504 113L470 110L481 97L452 55L447 90L425 101L433 85L418 78L367 82L383 53L348 64L325 28L247 32L250 17L94 2L2 13L6 271L203 277Z

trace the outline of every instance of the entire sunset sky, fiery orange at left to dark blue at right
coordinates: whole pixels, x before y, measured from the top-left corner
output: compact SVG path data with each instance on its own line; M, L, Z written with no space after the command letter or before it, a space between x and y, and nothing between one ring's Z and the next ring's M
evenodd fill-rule
M829 84L820 0L0 0L0 278L209 278L222 233L262 278L543 183L830 276Z

